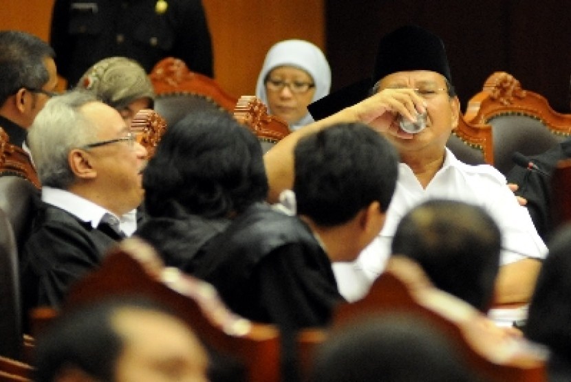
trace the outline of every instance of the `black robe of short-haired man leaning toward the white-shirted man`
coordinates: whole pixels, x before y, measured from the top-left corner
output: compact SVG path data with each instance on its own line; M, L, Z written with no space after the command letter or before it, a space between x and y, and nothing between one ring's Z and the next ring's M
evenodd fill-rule
M325 326L342 300L310 228L262 204L212 240L195 276L211 282L235 313L282 328Z

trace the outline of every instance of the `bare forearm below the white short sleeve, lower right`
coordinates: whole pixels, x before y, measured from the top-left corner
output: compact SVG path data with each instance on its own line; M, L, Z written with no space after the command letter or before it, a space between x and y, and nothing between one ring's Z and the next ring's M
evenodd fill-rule
M532 258L502 265L496 280L494 304L529 302L540 268L541 262Z

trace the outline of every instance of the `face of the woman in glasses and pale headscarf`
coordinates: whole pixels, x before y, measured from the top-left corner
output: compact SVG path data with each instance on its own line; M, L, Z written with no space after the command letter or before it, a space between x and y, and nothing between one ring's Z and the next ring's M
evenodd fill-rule
M295 124L308 113L315 83L307 71L297 67L275 67L266 77L268 107L288 124Z

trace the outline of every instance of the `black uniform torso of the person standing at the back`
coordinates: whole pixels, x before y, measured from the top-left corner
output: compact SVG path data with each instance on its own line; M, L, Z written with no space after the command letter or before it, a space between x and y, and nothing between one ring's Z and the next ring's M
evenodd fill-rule
M56 0L50 43L58 73L70 87L94 63L111 56L138 61L149 72L162 58L183 60L213 76L211 35L201 0Z

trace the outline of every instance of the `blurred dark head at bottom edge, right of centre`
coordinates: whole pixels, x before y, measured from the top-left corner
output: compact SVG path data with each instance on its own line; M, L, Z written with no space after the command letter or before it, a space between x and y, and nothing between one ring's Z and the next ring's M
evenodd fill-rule
M385 314L340 328L316 350L312 382L478 381L438 328Z

